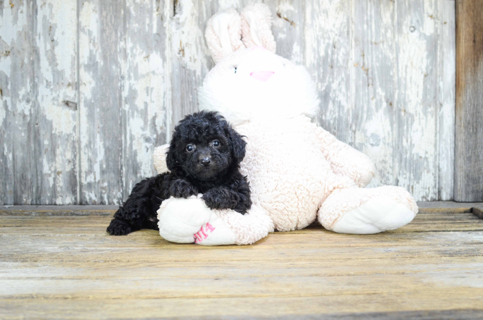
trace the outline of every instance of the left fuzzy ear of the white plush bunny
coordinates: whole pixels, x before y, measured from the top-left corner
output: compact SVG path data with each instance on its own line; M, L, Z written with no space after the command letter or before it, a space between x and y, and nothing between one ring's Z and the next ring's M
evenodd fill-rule
M244 48L242 22L237 10L229 8L209 18L205 39L215 63L220 62L230 53Z

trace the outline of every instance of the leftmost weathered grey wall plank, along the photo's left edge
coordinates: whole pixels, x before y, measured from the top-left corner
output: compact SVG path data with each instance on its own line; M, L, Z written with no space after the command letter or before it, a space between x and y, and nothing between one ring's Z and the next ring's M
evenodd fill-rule
M35 1L1 1L0 16L0 204L35 204Z

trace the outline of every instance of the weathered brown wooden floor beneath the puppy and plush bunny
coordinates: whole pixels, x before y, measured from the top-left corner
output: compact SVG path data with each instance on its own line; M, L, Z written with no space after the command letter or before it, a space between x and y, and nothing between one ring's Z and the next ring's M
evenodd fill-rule
M222 247L153 230L108 236L109 219L1 215L0 318L482 315L483 220L472 213L420 213L377 235L311 226Z

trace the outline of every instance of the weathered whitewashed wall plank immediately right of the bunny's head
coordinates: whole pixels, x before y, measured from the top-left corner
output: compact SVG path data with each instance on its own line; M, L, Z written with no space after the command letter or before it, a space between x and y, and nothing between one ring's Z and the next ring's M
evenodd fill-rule
M319 93L317 123L351 143L351 8L347 1L307 1L305 66Z

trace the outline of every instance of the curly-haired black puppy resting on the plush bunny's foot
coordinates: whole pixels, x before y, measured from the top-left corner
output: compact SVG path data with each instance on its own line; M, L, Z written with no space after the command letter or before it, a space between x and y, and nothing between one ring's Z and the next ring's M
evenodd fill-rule
M135 185L128 200L114 213L107 227L112 235L126 235L142 228L158 229L157 210L171 196L188 198L203 193L211 209L246 213L250 189L240 173L245 144L216 112L186 116L174 128L166 156L171 171L146 178Z

